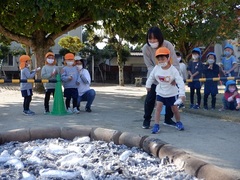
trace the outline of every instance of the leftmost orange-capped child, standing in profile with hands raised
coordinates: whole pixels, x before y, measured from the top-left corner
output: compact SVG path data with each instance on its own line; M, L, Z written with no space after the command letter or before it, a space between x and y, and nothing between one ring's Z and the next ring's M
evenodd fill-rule
M27 80L34 78L36 72L40 70L39 68L30 72L29 67L31 65L31 58L28 55L22 55L19 58L19 68L21 70L21 80ZM29 109L30 103L32 101L32 83L20 83L20 89L23 101L23 114L24 115L34 115L35 113Z

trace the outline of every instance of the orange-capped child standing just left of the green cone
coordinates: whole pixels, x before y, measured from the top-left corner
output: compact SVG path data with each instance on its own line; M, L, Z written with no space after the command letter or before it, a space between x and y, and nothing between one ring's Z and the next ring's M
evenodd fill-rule
M55 80L56 75L58 74L58 68L55 65L56 60L52 52L48 52L45 55L45 66L43 66L41 71L42 79ZM49 100L51 94L54 96L55 92L55 83L44 83L45 88L45 98L44 98L44 114L49 114Z

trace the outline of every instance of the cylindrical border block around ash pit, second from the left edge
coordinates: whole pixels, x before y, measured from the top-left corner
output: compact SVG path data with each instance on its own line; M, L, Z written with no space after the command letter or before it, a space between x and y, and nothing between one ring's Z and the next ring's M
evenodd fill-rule
M31 140L46 139L46 138L59 138L61 136L60 127L49 128L31 128L30 138Z

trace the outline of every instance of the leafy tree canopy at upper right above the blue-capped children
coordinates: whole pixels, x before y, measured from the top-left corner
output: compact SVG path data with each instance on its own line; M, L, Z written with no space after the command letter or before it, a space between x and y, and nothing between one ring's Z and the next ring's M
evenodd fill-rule
M169 4L168 13L159 21L165 37L188 56L196 46L209 47L235 38L239 29L236 1L178 1ZM206 48L207 49L207 48Z

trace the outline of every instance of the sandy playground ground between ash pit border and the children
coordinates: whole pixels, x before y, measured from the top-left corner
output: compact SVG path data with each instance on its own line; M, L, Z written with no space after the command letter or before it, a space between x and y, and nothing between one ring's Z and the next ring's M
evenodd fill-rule
M161 126L159 134L142 129L143 103L140 98L146 94L144 87L126 85L94 84L96 99L92 113L84 110L82 103L78 115L44 115L43 94L34 92L31 110L35 116L22 114L23 98L18 86L0 84L0 132L35 127L66 127L92 125L123 132L157 137L197 158L226 168L240 177L240 123L229 122L201 115L181 113L185 131ZM51 100L51 105L53 100ZM240 115L240 112L237 112ZM161 117L163 120L163 117ZM153 124L153 121L152 121Z

